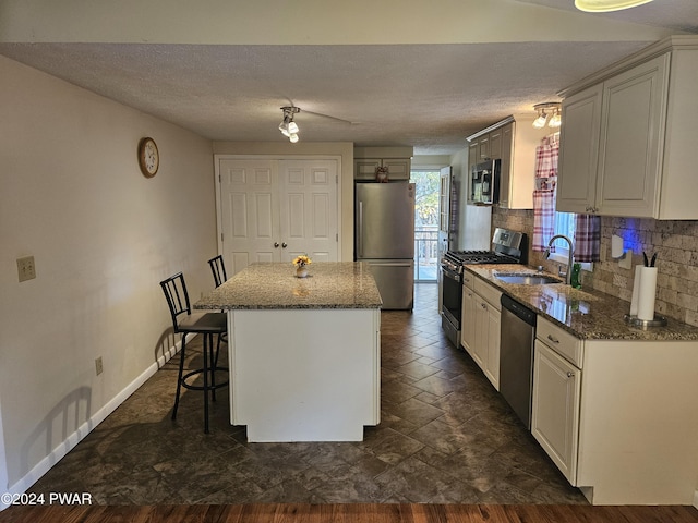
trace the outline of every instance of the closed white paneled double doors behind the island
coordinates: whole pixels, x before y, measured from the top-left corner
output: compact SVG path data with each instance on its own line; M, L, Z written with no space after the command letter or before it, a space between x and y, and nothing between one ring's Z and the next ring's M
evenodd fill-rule
M254 262L336 262L338 161L218 157L220 253L228 277Z

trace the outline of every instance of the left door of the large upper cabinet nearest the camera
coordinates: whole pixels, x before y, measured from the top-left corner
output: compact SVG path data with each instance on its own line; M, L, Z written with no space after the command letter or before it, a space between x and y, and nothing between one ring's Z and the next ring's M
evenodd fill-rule
M563 101L556 208L593 211L599 161L602 86L595 85Z

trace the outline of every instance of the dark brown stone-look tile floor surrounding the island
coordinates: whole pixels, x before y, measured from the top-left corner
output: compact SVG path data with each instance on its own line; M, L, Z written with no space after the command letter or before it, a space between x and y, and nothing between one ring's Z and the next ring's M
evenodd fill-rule
M31 490L108 504L586 503L445 340L436 294L418 284L413 313L382 313L382 422L362 442L248 443L228 423L227 389L209 435L198 392L184 393L172 422L176 356Z

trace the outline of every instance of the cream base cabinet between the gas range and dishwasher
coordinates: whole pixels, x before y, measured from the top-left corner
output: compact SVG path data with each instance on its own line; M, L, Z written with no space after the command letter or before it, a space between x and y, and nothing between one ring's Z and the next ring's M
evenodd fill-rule
M468 276L462 287L460 343L490 382L500 390L500 296L480 278Z

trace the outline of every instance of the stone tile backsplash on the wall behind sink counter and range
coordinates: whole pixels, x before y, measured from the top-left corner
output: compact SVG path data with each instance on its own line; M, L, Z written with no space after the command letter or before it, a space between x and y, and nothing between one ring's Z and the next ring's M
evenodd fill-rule
M493 208L493 227L506 227L533 238L533 211ZM642 251L657 253L657 302L659 314L698 326L698 221L659 221L649 218L601 218L601 260L593 271L582 271L582 287L591 287L628 302L633 295L634 269L624 269L611 258L611 235L624 239L633 250L633 267L642 265ZM543 253L528 253L529 265L556 272L559 264Z

